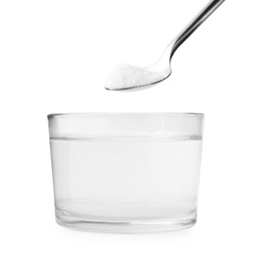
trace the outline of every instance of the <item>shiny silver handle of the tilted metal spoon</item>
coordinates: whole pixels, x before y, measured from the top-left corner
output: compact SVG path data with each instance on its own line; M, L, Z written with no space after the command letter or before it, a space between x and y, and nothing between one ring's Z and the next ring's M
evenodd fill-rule
M170 58L175 50L193 33L206 19L215 12L215 10L224 2L224 0L212 0L205 8L180 32L169 44L171 47Z

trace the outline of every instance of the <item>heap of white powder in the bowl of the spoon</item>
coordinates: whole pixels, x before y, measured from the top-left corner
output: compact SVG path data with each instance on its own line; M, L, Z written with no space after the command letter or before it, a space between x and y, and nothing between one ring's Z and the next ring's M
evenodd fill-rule
M154 84L161 79L157 72L128 64L118 64L106 80L105 88L110 90L139 88Z

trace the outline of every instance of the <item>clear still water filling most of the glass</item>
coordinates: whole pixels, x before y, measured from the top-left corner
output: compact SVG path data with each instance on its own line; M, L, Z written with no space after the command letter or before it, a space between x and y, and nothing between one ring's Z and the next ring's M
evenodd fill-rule
M201 138L51 139L56 209L92 220L196 215Z

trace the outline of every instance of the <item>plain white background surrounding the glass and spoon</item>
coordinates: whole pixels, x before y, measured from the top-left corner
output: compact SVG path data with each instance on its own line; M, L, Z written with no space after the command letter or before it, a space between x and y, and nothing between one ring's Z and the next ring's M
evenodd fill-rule
M0 2L1 255L255 255L254 1L225 1L151 90L103 90L111 65L155 62L207 0ZM198 224L80 232L54 222L46 114L204 112ZM254 244L253 244L254 242Z

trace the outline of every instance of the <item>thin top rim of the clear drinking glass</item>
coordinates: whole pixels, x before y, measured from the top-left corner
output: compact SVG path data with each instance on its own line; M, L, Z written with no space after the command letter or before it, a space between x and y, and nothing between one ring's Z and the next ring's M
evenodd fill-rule
M198 116L205 117L204 113L196 112L77 112L77 113L51 113L47 115L48 119L58 116Z

